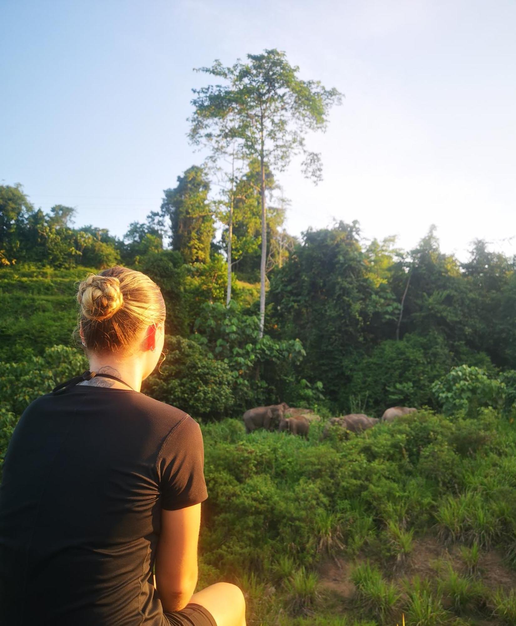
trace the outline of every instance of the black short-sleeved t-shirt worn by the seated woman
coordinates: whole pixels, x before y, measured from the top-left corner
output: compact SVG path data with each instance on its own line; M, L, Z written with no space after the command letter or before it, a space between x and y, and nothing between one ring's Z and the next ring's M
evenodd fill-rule
M163 626L160 513L204 501L199 424L145 394L73 386L24 411L0 488L0 624Z

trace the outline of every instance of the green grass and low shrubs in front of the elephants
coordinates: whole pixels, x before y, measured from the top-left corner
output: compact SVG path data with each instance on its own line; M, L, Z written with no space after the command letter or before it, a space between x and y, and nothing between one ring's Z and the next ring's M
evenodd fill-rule
M516 431L431 412L308 441L203 426L202 582L252 625L516 623Z

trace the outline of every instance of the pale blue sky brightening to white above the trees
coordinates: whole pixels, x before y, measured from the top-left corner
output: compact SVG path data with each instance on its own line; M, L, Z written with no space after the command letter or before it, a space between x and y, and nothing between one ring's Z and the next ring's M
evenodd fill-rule
M346 98L324 181L279 175L292 234L357 219L410 248L431 223L467 257L516 254L513 0L1 0L0 181L43 210L118 236L201 156L188 145L192 68L286 51Z

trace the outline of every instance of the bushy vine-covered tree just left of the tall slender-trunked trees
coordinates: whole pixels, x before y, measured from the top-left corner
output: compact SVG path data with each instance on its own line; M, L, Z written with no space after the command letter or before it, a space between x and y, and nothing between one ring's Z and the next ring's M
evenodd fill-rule
M177 183L165 190L161 206L163 217L170 220L172 249L181 252L187 263L207 263L215 233L209 180L204 168L192 165L177 177Z

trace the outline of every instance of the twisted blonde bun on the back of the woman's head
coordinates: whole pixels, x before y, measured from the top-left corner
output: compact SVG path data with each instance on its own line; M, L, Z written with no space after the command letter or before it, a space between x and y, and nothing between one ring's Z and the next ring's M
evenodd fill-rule
M86 319L97 322L110 319L123 307L120 280L116 276L90 274L79 285L77 302Z

